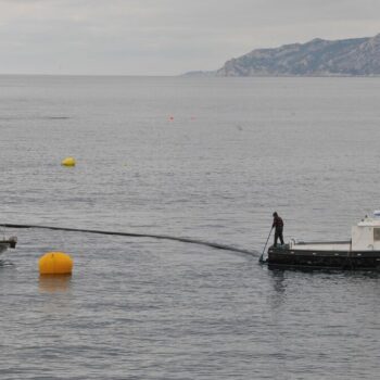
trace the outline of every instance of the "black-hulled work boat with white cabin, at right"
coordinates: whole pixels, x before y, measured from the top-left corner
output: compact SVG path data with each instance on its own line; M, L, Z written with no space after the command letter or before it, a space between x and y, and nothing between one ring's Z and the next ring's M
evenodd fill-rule
M296 242L270 246L269 267L380 270L380 211L352 227L350 241Z

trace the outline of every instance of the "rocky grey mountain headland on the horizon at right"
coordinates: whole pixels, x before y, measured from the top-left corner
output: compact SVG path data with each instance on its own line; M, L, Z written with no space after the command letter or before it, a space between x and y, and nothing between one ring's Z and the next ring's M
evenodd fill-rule
M343 40L313 39L306 43L256 49L229 60L215 72L194 72L206 76L378 76L380 75L380 34Z

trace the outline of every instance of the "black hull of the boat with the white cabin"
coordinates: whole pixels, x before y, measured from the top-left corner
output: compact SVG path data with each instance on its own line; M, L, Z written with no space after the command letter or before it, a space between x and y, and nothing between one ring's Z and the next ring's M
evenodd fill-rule
M269 267L380 270L380 251L337 252L290 250L288 245L268 249Z

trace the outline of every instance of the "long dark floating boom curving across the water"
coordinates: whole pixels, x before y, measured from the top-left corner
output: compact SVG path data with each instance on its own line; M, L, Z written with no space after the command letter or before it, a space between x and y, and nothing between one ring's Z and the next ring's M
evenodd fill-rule
M53 226L38 226L38 225L13 225L13 224L0 224L0 227L5 228L40 228L40 229L50 229L56 231L68 231L68 232L85 232L85 233L98 233L98 235L112 235L119 237L131 237L131 238L152 238L152 239L162 239L162 240L174 240L180 241L183 243L206 245L217 250L240 252L250 255L258 254L256 251L242 250L232 245L225 245L214 242L208 242L204 240L190 239L190 238L180 238L180 237L172 237L168 235L154 235L154 233L136 233L136 232L118 232L118 231L102 231L97 229L80 229L80 228L68 228L68 227L53 227Z

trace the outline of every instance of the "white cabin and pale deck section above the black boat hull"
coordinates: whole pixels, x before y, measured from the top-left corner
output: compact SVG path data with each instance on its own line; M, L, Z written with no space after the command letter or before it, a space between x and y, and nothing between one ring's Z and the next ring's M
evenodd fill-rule
M351 241L335 242L295 242L291 240L292 251L329 251L329 252L363 252L380 251L380 211L373 217L365 217L351 229Z

